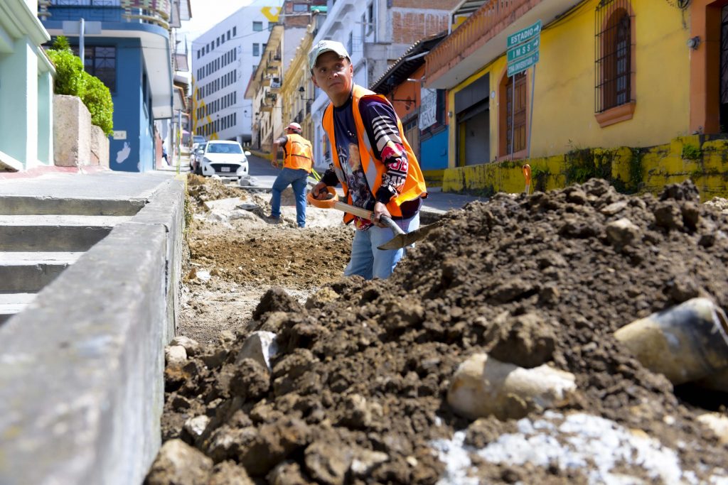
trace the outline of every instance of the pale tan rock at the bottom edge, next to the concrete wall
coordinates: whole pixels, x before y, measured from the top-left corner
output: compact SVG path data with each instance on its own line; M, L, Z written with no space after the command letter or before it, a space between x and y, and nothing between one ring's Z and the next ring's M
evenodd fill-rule
M184 441L173 439L162 445L144 483L207 485L212 469L213 460Z

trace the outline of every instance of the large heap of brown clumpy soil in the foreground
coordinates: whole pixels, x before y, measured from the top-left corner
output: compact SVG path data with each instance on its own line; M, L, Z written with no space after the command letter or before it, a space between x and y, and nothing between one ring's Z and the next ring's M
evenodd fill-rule
M236 337L167 366L163 439L181 438L194 447L186 452L208 460L195 483L237 476L237 483L435 484L451 463L433 443L464 430L465 443L482 449L524 426L472 422L448 406L457 366L487 352L573 373L577 398L558 412L604 418L665 446L678 481L725 479L727 449L696 420L703 410L612 334L692 297L728 307L727 235L726 217L701 205L692 183L654 197L590 180L469 204L448 213L388 280L341 279L305 305L272 289ZM270 369L238 359L253 331L277 336ZM528 422L544 416L553 418L536 410ZM547 446L560 440L569 438ZM467 459L467 483L594 483L598 467ZM655 479L629 456L612 457L611 466L618 483ZM148 480L172 483L171 476L159 460Z

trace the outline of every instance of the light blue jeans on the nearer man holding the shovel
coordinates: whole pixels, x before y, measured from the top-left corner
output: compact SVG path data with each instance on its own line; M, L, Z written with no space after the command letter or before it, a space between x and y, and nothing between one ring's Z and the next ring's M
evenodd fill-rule
M419 228L419 212L409 219L395 220L405 233ZM389 278L405 254L403 249L376 249L395 237L392 229L371 226L366 231L355 231L352 241L352 259L349 260L344 276L359 275L365 279ZM414 246L414 244L413 244ZM412 247L412 246L408 246Z

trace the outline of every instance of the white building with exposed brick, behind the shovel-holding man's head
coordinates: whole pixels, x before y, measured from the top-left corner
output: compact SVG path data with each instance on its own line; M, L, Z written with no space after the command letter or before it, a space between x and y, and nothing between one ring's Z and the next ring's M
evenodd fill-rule
M413 7L411 0L328 0L326 20L314 44L332 39L344 44L354 65L354 81L368 87L387 71L414 42L446 31L450 11L457 0L437 2L437 8ZM427 1L423 4L435 4ZM331 155L323 143L321 120L328 97L315 89L312 105L314 160L328 167Z

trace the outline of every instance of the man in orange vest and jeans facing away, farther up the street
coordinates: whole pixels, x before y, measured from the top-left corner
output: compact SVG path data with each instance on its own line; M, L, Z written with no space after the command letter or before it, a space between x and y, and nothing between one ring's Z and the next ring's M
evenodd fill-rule
M306 227L306 180L313 168L311 142L301 136L301 125L290 123L285 128L285 136L274 140L271 164L278 167L278 147L283 147L283 169L273 183L271 215L269 220L280 221L280 193L288 185L296 196L296 223L299 228Z

